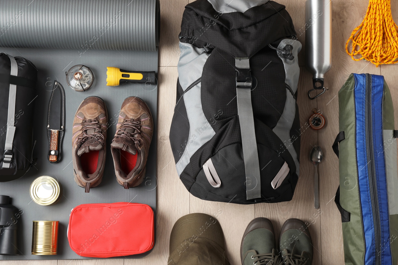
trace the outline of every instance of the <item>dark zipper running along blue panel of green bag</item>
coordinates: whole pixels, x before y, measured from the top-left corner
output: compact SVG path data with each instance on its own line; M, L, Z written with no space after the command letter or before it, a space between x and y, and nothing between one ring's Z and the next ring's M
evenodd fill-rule
M372 116L372 79L370 74L366 76L366 87L365 87L365 123L366 123L366 153L368 160L368 175L369 175L369 193L371 195L371 205L373 213L373 225L375 227L375 248L376 257L375 265L381 265L381 224L380 224L380 209L378 204L378 193L377 193L377 177L376 177L376 165L373 152L373 116Z

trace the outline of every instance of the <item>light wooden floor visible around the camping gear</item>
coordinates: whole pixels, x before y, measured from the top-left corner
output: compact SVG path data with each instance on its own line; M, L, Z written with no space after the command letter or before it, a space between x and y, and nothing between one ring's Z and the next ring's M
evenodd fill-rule
M354 62L345 53L344 47L351 31L361 23L367 10L367 0L333 0L333 58L332 69L326 74L329 88L317 100L309 100L307 91L312 86L311 75L304 67L304 47L300 53L300 82L298 84L298 106L300 122L308 121L312 108L321 110L327 120L325 128L316 132L304 130L301 135L300 178L293 200L284 203L257 205L234 205L202 201L188 193L178 178L169 142L169 129L176 102L177 62L179 58L178 34L184 6L188 0L160 0L161 32L159 48L159 102L158 102L158 206L156 245L152 253L139 260L53 260L53 261L2 261L2 264L48 264L48 265L121 265L121 264L166 264L169 255L170 231L176 220L188 213L220 212L218 220L224 230L228 260L240 265L240 241L248 222L255 217L271 219L276 233L288 218L300 218L308 223L314 244L314 265L344 264L341 236L341 219L334 204L338 187L338 159L332 151L332 143L338 130L338 91L351 73L384 75L394 101L395 121L398 121L398 65L376 68L367 61ZM298 39L304 46L305 0L277 0L286 5L293 18ZM398 3L392 1L392 13L398 22ZM308 161L312 145L320 145L324 161L320 164L320 209L313 206L314 166ZM133 225L133 224L132 224Z

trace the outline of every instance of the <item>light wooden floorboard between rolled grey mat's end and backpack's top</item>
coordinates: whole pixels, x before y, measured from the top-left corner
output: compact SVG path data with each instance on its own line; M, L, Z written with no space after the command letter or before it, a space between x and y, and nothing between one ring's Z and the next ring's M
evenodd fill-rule
M160 0L159 66L177 66L178 35L187 0Z

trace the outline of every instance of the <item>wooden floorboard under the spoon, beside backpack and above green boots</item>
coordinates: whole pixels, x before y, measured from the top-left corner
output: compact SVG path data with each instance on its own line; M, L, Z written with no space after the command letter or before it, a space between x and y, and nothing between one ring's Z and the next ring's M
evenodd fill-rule
M317 132L309 128L308 118L312 114L312 108L316 108L316 101L308 99L308 84L312 83L312 77L304 67L300 67L300 79L298 82L298 108L300 114L300 176L298 178L295 194L292 201L281 203L256 204L256 217L266 217L273 223L277 248L279 248L279 232L283 222L289 218L298 218L308 224L312 243L314 246L313 265L320 263L320 221L316 209L314 209L314 165L309 161L308 154L313 145L318 144Z

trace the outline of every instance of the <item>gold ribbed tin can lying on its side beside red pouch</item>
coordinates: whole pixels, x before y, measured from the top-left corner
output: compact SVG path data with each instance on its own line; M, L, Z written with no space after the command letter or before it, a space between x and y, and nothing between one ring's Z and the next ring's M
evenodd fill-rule
M33 255L57 255L58 224L59 221L33 221Z

